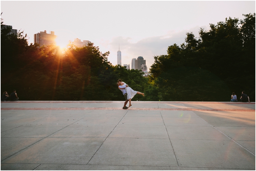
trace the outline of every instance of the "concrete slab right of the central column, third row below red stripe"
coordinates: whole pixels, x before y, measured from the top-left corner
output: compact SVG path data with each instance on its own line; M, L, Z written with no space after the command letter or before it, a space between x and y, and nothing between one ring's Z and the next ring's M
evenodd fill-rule
M214 127L166 126L170 139L230 140Z

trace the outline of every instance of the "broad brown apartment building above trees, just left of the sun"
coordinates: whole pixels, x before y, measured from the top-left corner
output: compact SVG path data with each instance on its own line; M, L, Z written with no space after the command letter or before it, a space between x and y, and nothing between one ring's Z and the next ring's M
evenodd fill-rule
M50 34L46 33L46 30L40 31L40 33L34 34L34 44L38 43L40 46L55 44L57 35L54 35L54 31Z

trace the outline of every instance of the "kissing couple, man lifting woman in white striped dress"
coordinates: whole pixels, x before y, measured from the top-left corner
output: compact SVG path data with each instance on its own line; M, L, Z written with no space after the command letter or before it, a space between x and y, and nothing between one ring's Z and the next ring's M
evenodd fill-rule
M136 94L141 94L144 97L144 93L141 93L139 91L134 91L131 87L129 87L125 82L122 82L121 79L119 79L116 83L118 86L118 89L120 89L123 92L123 95L125 97L124 107L123 109L128 109L132 106L131 100ZM126 104L129 101L129 107L126 107Z

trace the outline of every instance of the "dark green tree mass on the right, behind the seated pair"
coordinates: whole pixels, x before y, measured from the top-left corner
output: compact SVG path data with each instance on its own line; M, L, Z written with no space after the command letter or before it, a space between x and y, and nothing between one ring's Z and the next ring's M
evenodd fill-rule
M163 101L229 101L243 90L255 101L255 13L187 33L186 43L155 56L148 92Z

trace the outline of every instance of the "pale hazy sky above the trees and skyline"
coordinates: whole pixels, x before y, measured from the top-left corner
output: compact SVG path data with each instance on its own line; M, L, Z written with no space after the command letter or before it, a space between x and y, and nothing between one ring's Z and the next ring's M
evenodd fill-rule
M186 33L198 37L210 24L244 19L255 12L255 1L1 1L1 12L4 24L24 31L29 43L40 31L54 31L60 47L89 40L100 52L110 51L113 65L120 48L122 66L142 56L149 70L154 56L184 43Z

